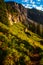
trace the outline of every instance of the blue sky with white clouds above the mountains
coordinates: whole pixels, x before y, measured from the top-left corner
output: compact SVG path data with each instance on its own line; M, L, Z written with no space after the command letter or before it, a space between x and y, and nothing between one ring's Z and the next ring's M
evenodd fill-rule
M43 0L5 0L21 3L26 8L36 8L43 11Z

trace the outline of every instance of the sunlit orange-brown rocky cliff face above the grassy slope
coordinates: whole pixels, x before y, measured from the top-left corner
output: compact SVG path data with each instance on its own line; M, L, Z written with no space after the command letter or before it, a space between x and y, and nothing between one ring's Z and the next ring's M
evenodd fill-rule
M11 25L20 21L26 21L27 9L25 9L21 4L6 2L6 8Z

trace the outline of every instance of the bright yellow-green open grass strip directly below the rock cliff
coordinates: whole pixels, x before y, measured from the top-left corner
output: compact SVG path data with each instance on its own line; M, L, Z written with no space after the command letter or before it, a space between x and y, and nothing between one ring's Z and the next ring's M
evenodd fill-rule
M14 25L12 27L10 27L12 29L12 31L14 32L15 35L17 35L20 39L22 40L26 40L28 41L30 44L33 45L33 43L36 46L40 46L43 47L40 42L38 42L39 40L41 40L41 37L39 37L37 34L27 30L28 33L31 34L27 36L27 34L25 34L24 29L26 28L22 23L14 23Z

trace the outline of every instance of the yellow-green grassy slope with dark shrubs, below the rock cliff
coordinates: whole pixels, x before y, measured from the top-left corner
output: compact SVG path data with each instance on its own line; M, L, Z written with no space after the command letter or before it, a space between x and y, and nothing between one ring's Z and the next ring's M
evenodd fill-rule
M31 61L30 56L34 56L37 50L37 54L41 56L38 62L43 65L43 45L38 42L41 37L30 30L27 30L27 34L25 28L21 22L10 27L0 22L0 64L31 65L36 62Z

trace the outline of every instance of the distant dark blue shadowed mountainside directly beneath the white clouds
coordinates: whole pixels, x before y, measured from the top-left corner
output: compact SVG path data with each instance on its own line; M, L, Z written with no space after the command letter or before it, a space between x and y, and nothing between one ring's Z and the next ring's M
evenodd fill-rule
M28 13L28 15L27 15L28 18L30 18L40 24L43 24L43 11L33 8L33 9L28 9L27 13Z

